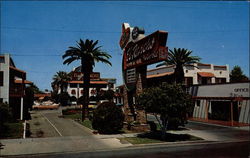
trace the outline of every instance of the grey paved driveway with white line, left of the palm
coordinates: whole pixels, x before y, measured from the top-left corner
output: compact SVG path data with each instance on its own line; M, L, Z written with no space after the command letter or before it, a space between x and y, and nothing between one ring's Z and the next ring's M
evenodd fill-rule
M31 137L90 136L91 131L77 122L62 118L61 109L32 111Z

